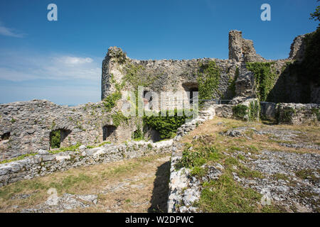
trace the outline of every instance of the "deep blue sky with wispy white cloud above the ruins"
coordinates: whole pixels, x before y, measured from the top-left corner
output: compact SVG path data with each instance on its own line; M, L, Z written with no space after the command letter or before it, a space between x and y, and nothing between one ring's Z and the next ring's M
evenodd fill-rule
M47 6L58 6L48 21ZM271 6L261 21L260 6ZM228 32L242 31L267 59L289 55L310 33L316 0L0 1L0 103L100 101L101 65L118 46L135 59L228 59Z

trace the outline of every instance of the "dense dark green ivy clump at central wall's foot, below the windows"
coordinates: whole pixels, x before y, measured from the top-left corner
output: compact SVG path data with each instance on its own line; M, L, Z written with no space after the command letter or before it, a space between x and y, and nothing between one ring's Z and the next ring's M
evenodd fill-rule
M166 139L173 138L177 129L191 117L187 117L184 112L183 116L178 116L178 111L175 109L174 116L169 116L169 111L166 111L166 116L144 116L144 123L158 131L161 139Z

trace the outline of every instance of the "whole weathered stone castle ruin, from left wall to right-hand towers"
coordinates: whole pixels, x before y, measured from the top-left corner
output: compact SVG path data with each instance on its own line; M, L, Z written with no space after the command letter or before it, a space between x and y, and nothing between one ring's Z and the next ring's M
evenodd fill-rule
M159 99L165 100L160 108L188 106L194 98L192 92L198 92L199 99L230 100L229 105L215 106L218 116L234 117L235 106L251 108L255 104L247 113L240 113L242 118L255 119L259 117L260 101L267 101L262 104L262 114L271 118L270 113L277 113L279 123L304 123L306 118L316 121L319 83L303 79L302 66L308 43L317 41L317 32L295 38L285 60L265 60L240 31L229 33L228 60L133 60L122 49L111 47L102 62L102 101L71 107L46 100L0 105L0 160L50 150L55 136L55 144L60 147L130 140L143 123L142 118L122 114L122 106L128 101L126 92L143 96L149 109L157 109ZM139 91L139 86L144 90ZM148 96L149 92L154 93ZM163 97L161 92L172 93ZM159 140L152 128L144 132L144 137Z

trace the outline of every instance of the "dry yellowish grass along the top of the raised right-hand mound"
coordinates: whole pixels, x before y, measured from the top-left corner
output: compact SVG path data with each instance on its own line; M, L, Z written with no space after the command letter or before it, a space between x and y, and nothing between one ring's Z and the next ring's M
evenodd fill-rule
M218 123L220 123L218 125ZM264 123L252 123L243 122L235 119L218 118L215 117L210 121L198 126L194 131L191 131L188 135L184 136L181 140L183 143L191 143L195 135L210 135L213 138L212 143L215 143L219 148L235 149L239 148L244 152L254 153L255 150L283 150L287 152L295 153L319 153L319 150L307 149L307 148L286 148L279 145L284 141L271 139L270 135L256 135L253 131L247 131L245 134L251 139L244 137L232 138L228 136L220 135L220 132L228 131L230 128L238 128L241 126L253 127L257 130L261 129L287 129L292 131L299 131L299 135L294 139L292 143L310 143L320 144L320 128L319 126L289 126L289 125L274 125L269 126ZM290 143L290 142L285 142Z

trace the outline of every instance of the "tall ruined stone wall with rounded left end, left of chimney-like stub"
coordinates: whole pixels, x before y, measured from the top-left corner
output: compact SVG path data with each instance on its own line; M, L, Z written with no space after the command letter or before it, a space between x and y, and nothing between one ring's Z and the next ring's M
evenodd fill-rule
M119 60L124 56L125 60ZM198 73L200 64L215 61L220 69L218 91L212 98L232 99L233 94L228 89L230 82L235 77L235 70L240 64L235 60L218 60L215 58L203 58L193 60L132 60L124 54L120 48L109 48L107 56L102 63L102 100L116 91L111 77L121 84L128 73L128 68L133 66L137 70L137 84L144 85L145 91L156 92L161 99L161 92L181 92L183 101L188 102L186 92L198 88ZM125 89L133 91L132 84L126 83ZM169 99L171 95L164 97L167 105L172 106ZM177 98L178 99L178 98Z

